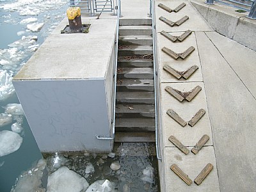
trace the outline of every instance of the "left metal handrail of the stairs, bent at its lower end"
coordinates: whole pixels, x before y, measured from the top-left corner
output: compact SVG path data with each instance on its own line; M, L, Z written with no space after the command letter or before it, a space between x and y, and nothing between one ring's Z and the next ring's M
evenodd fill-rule
M113 86L114 86L114 97L113 97L113 114L112 114L112 136L111 137L101 137L99 135L96 135L96 138L98 140L114 140L115 139L115 123L116 123L116 117L115 117L115 114L116 114L116 75L117 75L117 59L118 59L118 35L119 35L119 19L120 19L120 15L121 15L121 12L120 12L120 4L121 4L121 1L118 0L118 3L117 3L117 23L116 23L116 40L115 40L115 65L114 65L114 76L113 76Z

